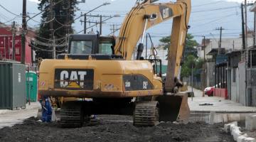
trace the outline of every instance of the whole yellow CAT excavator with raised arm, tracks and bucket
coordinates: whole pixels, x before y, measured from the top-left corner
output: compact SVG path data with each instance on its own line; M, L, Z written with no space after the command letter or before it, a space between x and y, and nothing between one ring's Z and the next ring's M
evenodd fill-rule
M61 104L63 127L82 126L92 114L133 115L134 126L154 126L159 121L187 123L188 95L178 91L182 86L178 74L190 13L190 0L137 1L117 39L70 35L67 54L41 62L39 94L76 98ZM143 43L148 28L171 18L171 45L164 78L159 70L161 60L154 58L154 52L149 59L142 56Z

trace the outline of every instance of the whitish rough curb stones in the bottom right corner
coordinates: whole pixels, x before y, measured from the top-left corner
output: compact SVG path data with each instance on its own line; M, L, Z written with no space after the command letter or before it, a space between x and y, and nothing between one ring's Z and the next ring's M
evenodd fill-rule
M224 125L224 131L230 133L233 136L233 139L238 142L256 142L255 138L247 136L246 133L240 131L237 121L233 121L230 124Z

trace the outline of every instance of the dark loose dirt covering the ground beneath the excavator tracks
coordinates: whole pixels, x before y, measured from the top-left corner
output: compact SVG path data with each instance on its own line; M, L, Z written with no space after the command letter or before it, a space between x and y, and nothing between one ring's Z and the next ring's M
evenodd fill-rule
M137 128L130 116L98 116L89 126L62 129L58 124L44 124L30 118L23 124L0 129L0 141L233 141L221 128L223 124L204 123L161 123Z

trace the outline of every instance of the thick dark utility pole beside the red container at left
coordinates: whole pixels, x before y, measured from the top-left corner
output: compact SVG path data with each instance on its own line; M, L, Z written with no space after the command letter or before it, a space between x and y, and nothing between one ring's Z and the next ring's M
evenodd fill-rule
M22 33L21 33L21 63L25 64L26 50L26 0L23 0L22 6Z

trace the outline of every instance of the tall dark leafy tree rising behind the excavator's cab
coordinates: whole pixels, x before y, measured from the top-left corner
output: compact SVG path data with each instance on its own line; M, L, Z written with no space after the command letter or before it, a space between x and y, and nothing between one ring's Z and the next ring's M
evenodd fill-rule
M60 0L50 0L53 1L53 4L57 3ZM36 31L36 40L33 45L36 45L36 58L52 58L52 52L49 52L50 50L53 50L53 40L51 39L51 31L50 31L50 21L53 22L53 31L57 28L60 28L60 26L63 26L62 28L58 29L58 31L55 31L55 44L57 45L64 45L66 42L66 37L69 33L73 33L73 28L71 24L73 23L74 17L75 17L75 9L76 7L76 0L63 0L60 2L60 4L56 4L53 6L53 17L54 19L51 19L49 7L50 2L49 0L41 0L38 4L38 9L40 11L43 11L41 16L41 23L40 28L38 31ZM33 48L32 45L32 48ZM43 50L40 50L40 49ZM62 53L58 51L65 50L65 46L63 47L56 47L57 53Z

